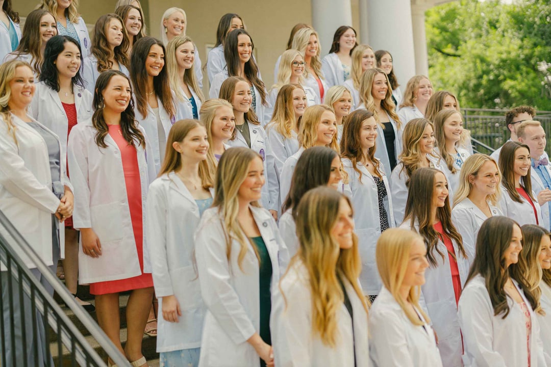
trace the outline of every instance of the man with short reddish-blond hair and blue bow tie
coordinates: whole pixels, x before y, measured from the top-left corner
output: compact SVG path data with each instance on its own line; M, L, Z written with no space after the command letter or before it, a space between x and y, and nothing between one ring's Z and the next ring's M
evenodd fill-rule
M538 204L542 207L543 223L540 224L549 231L551 225L549 222L551 170L549 169L549 157L545 152L545 145L547 145L545 130L538 121L527 120L518 124L517 136L520 143L530 147L532 190L536 193Z

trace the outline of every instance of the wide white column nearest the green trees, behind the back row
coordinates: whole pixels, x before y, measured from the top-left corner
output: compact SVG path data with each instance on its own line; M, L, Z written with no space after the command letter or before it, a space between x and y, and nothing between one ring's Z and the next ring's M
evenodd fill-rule
M367 14L361 17L368 18L369 45L392 54L394 73L403 91L415 75L410 0L369 0Z

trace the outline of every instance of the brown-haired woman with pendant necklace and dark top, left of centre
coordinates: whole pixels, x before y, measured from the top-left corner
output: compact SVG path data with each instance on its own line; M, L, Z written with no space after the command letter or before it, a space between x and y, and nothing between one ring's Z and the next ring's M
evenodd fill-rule
M252 96L249 83L240 76L230 76L220 86L220 98L231 103L235 116L236 134L226 141L226 144L250 148L262 157L266 183L262 187L261 204L277 220L279 181L276 162L268 136L251 109Z

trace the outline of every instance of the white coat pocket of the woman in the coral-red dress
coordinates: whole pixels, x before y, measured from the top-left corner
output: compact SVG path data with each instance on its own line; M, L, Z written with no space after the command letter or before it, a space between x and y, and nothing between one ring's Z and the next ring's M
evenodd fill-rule
M122 240L122 208L118 202L90 207L92 229L101 244Z

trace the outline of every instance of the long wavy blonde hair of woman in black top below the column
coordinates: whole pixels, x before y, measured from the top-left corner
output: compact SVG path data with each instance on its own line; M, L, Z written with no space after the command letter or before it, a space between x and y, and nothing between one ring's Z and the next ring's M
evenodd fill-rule
M386 75L382 69L372 68L365 70L365 72L361 74L359 89L360 102L364 104L365 109L371 111L374 114L376 122L382 129L384 129L385 125L381 124L380 122L379 114L377 113L377 110L375 108L375 101L373 100L373 95L371 94L373 80L375 79L375 75L377 74L385 75L386 83L388 85L385 99L381 101L381 108L384 109L386 113L388 113L390 117L396 122L396 127L398 128L398 130L401 130L402 122L400 121L400 118L396 113L396 105L394 104L394 101L392 101L392 89L390 87L390 81L388 81L388 75Z

